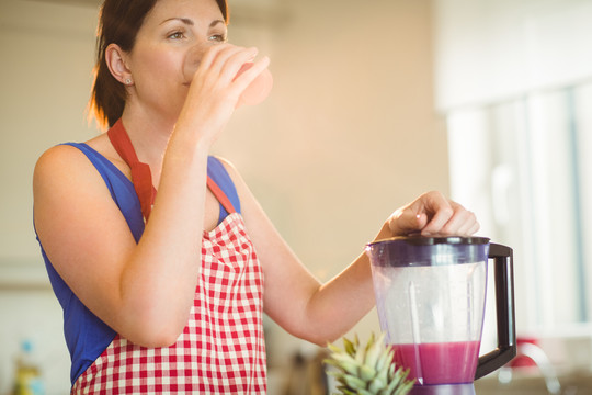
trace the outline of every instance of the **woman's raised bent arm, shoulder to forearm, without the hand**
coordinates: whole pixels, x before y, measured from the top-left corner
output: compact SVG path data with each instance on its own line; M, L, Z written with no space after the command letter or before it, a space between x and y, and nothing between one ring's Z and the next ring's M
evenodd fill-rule
M183 329L198 273L205 174L166 166L171 169L138 245L76 148L52 148L34 176L35 225L55 269L96 316L147 346L171 343ZM192 182L177 187L174 179L185 177Z

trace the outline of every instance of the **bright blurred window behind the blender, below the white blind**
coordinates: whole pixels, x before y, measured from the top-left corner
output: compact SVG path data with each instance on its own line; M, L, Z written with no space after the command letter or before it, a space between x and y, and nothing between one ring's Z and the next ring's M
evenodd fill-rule
M447 126L453 199L514 249L519 335L592 321L592 83L456 110Z

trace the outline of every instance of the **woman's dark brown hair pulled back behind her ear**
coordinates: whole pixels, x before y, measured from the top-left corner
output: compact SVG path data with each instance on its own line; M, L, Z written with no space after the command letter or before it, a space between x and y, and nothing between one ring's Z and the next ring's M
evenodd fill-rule
M113 126L122 116L127 99L125 87L109 70L105 49L110 44L117 44L122 50L134 48L144 19L158 0L105 0L99 13L96 31L96 59L94 65L94 84L89 102L89 117L94 116L99 127ZM228 23L226 0L216 0L224 20Z

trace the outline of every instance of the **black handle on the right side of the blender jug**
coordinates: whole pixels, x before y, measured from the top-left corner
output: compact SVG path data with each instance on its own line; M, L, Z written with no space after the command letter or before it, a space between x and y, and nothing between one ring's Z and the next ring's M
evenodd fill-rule
M494 263L498 348L479 357L475 380L501 368L516 356L513 251L510 247L492 242L489 258Z

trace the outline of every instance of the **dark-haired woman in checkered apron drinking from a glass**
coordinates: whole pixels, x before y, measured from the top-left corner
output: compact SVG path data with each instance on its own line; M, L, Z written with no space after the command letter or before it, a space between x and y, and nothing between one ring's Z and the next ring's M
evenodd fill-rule
M224 0L106 0L91 104L110 129L37 162L35 228L65 311L73 393L264 393L263 306L326 345L374 304L364 255L320 284L237 170L209 156L269 65L226 43L226 25ZM187 80L195 48L206 49ZM377 238L477 229L430 192Z

